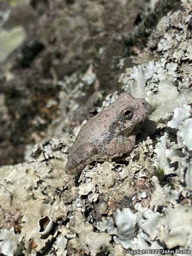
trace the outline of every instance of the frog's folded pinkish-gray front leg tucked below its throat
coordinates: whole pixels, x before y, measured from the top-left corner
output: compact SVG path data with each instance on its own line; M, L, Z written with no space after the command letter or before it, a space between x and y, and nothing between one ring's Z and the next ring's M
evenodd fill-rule
M107 147L107 154L110 156L122 156L124 153L131 152L135 147L135 135L130 134L128 137L119 135L110 141Z

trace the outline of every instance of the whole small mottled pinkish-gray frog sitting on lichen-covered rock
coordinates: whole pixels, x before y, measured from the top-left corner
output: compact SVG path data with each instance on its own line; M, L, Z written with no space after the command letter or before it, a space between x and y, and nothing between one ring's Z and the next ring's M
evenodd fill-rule
M111 105L93 116L79 131L68 154L67 174L77 174L93 161L109 161L132 151L135 146L134 126L149 113L144 99L123 92Z

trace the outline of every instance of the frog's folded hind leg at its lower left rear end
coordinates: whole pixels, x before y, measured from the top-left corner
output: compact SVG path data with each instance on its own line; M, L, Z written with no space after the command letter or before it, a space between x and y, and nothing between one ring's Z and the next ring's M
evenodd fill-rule
M65 166L65 172L71 175L82 172L88 164L94 161L92 160L92 156L95 154L97 154L97 148L93 143L80 145L71 153Z

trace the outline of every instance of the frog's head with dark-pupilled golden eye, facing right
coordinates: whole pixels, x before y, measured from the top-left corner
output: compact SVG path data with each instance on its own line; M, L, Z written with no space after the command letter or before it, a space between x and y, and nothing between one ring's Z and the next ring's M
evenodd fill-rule
M120 133L130 133L134 126L149 114L150 105L144 99L133 98L128 92L121 93L116 101L116 127Z

